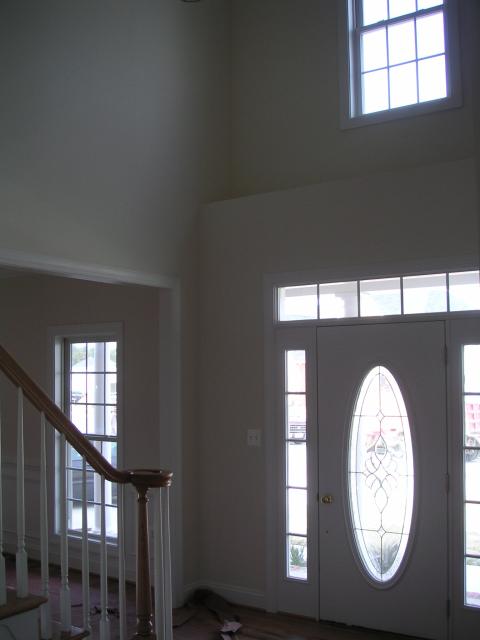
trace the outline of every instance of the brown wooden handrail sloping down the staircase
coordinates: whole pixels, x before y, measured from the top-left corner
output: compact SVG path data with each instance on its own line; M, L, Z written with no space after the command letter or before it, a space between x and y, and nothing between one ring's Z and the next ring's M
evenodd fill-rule
M161 469L121 470L113 467L2 346L0 346L0 370L16 387L23 390L25 397L33 406L45 414L48 422L59 433L62 433L72 447L85 456L88 464L106 480L121 484L131 483L136 488L139 486L150 488L171 485L171 471Z

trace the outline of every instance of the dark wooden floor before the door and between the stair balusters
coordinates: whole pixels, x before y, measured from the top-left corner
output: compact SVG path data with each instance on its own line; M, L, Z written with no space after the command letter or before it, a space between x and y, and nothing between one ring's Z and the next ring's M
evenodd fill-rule
M39 594L40 567L30 563L30 591ZM54 619L59 619L60 576L58 567L50 570L50 602ZM82 626L81 575L70 571L70 592L72 600L72 624ZM15 565L13 558L7 558L7 584L15 586ZM100 621L99 579L91 577L91 623L92 638L98 640ZM118 584L109 580L109 620L111 640L118 639ZM223 601L224 602L224 601ZM220 606L217 606L220 603ZM200 598L181 609L175 609L174 640L221 640L220 629L224 620L236 619L241 629L232 640L418 640L411 636L382 633L373 630L346 627L343 625L314 622L286 614L269 614L247 607L228 605L222 607L222 600L213 597ZM127 585L127 626L128 637L135 633L135 586Z

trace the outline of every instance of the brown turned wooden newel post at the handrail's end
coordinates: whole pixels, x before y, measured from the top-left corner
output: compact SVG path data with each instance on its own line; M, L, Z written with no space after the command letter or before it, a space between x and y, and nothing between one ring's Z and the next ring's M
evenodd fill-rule
M130 482L137 491L137 632L134 640L155 640L153 630L152 590L150 583L150 551L148 541L148 490L168 487L172 473L161 470L130 472Z

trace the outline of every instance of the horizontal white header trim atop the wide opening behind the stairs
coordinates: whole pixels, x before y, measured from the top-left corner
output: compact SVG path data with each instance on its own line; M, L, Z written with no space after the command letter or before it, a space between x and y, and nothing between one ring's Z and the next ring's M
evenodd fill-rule
M106 284L138 284L166 289L175 288L177 285L177 278L171 276L99 264L85 264L64 258L8 249L0 249L0 266Z

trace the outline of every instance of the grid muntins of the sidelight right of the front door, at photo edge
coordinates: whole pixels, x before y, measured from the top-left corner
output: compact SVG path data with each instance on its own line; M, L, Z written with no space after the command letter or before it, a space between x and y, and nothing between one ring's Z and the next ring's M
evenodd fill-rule
M475 560L480 563L480 549L478 553L472 553L468 550L467 547L467 506L468 505L480 505L480 500L472 500L467 499L467 462L473 462L478 457L480 457L480 442L478 446L471 446L467 444L467 417L466 417L466 404L467 398L480 396L480 388L475 391L465 391L465 350L471 346L479 346L474 344L465 344L462 349L462 417L463 417L463 429L462 429L462 465L463 465L463 571L464 571L464 580L463 580L463 604L466 607L478 609L480 607L480 599L478 599L478 603L473 603L469 601L469 594L467 591L467 566L468 560ZM480 361L478 362L478 366L480 367ZM480 403L477 403L480 408ZM467 455L470 458L467 461ZM478 532L480 535L480 531ZM474 596L474 594L471 594ZM478 594L477 594L478 596ZM472 597L473 599L473 597Z

